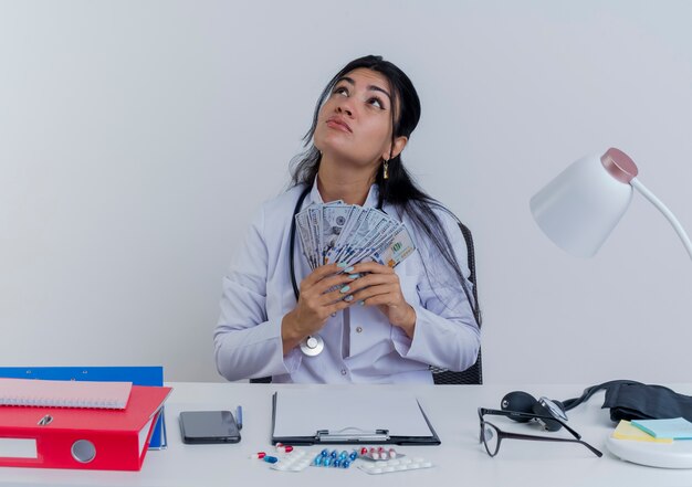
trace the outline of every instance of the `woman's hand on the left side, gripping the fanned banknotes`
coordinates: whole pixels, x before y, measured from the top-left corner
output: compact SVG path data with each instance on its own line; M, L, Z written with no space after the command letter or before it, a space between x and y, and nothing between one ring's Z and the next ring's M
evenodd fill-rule
M328 264L317 267L303 279L297 305L281 322L284 354L305 337L322 329L331 315L352 305L353 300L343 299L348 289L342 293L344 287L354 280L349 277L350 271L337 264ZM339 272L343 273L337 274ZM334 286L338 288L327 293Z

